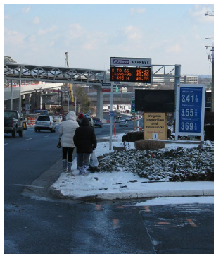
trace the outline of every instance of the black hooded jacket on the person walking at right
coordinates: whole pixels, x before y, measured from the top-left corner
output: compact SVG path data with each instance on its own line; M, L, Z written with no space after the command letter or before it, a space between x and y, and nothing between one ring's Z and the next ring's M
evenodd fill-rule
M77 153L91 154L97 146L96 135L94 128L89 126L88 118L83 118L80 123L80 127L75 130L73 137L75 146L77 147Z

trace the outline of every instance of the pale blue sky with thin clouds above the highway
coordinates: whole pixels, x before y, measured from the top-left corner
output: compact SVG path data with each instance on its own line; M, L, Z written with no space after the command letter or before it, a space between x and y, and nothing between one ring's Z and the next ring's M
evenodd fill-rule
M208 1L213 2L213 1ZM107 70L110 57L211 75L213 4L4 4L4 56L21 64Z

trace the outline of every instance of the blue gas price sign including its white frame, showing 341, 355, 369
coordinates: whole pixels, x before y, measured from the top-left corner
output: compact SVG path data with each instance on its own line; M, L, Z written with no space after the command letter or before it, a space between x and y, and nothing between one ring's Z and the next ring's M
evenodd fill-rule
M204 130L205 86L180 85L177 87L177 133L201 135Z

